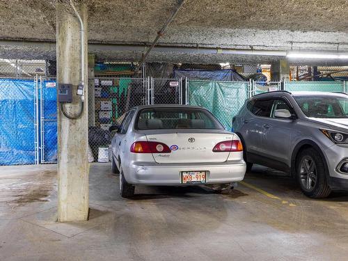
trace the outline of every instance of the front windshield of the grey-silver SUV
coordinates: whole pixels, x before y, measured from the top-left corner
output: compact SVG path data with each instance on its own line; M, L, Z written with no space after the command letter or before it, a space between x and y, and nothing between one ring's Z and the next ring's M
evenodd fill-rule
M348 96L299 96L294 97L307 117L348 118Z

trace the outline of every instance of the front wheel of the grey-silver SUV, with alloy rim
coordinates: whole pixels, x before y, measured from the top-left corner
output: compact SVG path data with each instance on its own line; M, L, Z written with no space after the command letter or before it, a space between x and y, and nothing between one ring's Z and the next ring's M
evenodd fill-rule
M317 150L308 148L300 152L296 161L296 180L303 194L310 198L326 198L330 195L325 169Z

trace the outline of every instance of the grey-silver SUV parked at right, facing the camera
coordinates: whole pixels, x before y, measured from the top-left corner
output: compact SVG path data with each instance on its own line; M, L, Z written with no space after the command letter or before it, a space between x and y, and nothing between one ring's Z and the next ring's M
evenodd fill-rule
M247 171L260 164L286 171L311 198L348 189L348 95L262 93L232 119Z

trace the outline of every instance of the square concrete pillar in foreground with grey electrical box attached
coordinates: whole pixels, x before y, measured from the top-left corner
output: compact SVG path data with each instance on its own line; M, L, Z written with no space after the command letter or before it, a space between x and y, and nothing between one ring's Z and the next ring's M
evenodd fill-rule
M77 7L84 22L85 72L87 72L87 9ZM75 116L80 110L81 96L76 95L81 81L81 37L79 19L68 3L56 3L56 49L58 84L72 84L73 100L64 104L65 112ZM84 75L84 100L88 101L88 77ZM59 104L58 104L59 105ZM58 221L88 219L88 102L76 120L63 116L58 109Z

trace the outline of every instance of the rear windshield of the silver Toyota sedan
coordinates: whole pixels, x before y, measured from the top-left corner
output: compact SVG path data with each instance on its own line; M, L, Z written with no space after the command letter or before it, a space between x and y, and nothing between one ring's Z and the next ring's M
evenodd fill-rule
M203 109L143 109L136 121L137 129L223 129L211 113Z

